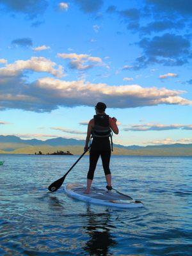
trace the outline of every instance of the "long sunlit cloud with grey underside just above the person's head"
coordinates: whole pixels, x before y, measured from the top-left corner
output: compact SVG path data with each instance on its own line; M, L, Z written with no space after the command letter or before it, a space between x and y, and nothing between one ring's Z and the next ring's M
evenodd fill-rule
M108 86L104 83L84 83L84 81L61 81L45 77L36 81L36 87L51 90L52 97L65 102L66 106L93 106L93 103L106 102L110 108L136 108L158 104L192 104L192 101L179 97L183 91L166 88L143 88L137 84Z

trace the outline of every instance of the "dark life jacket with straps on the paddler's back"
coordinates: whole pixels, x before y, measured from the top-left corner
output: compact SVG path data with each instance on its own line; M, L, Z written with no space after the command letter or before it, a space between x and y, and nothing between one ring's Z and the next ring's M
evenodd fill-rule
M113 151L113 132L111 131L108 115L94 115L94 127L92 128L92 138L111 138L111 150Z

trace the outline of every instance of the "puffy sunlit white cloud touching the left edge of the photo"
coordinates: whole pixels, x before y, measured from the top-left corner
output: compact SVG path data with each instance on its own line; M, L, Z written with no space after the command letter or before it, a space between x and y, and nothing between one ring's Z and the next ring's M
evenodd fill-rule
M19 76L26 70L35 72L47 72L56 77L63 76L62 66L56 67L56 63L44 57L31 57L29 60L17 60L12 64L7 64L0 68L0 77L14 77Z

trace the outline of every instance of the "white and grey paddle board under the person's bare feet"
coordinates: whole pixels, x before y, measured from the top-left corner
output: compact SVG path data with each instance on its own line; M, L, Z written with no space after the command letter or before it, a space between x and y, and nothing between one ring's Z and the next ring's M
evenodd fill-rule
M83 184L72 183L65 186L68 196L77 200L92 204L109 205L118 208L138 208L143 207L142 202L133 200L131 196L119 195L116 191L92 187L90 194L85 194L86 187Z

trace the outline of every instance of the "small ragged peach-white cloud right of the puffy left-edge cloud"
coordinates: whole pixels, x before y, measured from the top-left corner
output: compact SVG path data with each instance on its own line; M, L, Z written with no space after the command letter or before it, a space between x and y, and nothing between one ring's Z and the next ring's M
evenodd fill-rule
M104 65L101 58L88 54L58 53L57 56L70 60L70 68L76 68L77 70L86 70L94 66Z

